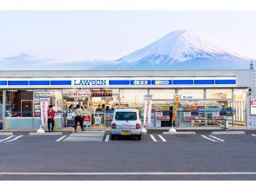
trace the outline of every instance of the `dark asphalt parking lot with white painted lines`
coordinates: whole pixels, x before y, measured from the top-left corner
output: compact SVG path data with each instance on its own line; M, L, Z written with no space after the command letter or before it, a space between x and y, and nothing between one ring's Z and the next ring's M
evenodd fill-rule
M0 180L256 180L255 132L0 135Z

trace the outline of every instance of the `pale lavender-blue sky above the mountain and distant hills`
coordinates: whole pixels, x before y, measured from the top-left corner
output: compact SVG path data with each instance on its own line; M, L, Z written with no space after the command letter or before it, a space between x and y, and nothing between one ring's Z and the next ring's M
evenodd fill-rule
M0 57L118 59L174 30L256 58L256 11L0 11Z

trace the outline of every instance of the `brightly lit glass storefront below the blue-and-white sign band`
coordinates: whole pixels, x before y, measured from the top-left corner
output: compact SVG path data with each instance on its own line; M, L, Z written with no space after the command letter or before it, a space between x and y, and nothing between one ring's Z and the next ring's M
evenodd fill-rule
M223 127L225 117L230 126L246 126L246 89L10 89L4 110L10 128L39 128L40 97L47 96L56 111L58 128L73 126L72 109L77 104L84 109L86 126L110 127L118 108L138 109L143 121L146 94L152 95L152 128L170 127L170 106L176 94L181 95L179 128ZM3 98L1 109L2 103Z

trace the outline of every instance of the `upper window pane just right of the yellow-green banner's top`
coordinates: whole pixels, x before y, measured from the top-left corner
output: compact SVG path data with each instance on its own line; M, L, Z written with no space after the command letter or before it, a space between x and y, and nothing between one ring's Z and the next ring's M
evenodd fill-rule
M204 99L204 89L178 89L181 100Z

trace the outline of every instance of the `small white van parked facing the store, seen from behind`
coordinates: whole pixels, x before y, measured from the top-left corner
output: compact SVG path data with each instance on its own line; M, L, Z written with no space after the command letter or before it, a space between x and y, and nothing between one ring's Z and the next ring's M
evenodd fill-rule
M141 139L138 109L115 109L111 122L111 139L117 135L137 135Z

